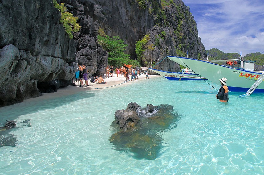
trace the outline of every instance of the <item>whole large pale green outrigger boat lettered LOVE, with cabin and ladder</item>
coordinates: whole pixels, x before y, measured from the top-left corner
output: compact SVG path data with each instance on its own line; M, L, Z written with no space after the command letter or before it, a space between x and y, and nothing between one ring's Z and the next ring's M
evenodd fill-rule
M219 84L219 79L227 78L227 86L230 91L246 92L250 95L255 92L264 92L263 71L255 71L254 61L242 61L241 57L237 60L196 60L192 58L167 56L170 60L183 65L193 72ZM240 67L234 68L221 63L239 63ZM220 64L217 64L220 63ZM249 94L250 93L250 94Z

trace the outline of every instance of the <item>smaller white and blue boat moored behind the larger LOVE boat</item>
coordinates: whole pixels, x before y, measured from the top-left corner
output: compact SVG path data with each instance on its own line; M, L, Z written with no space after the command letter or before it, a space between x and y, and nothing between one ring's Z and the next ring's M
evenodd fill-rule
M189 69L182 69L182 72L169 72L152 68L149 68L149 70L160 74L168 80L206 80L206 78L201 77Z

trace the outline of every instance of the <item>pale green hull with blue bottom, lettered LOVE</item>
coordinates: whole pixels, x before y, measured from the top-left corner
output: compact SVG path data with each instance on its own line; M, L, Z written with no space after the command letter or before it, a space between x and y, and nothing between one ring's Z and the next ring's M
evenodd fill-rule
M196 60L177 56L167 57L180 65L188 67L193 72L218 85L220 85L219 79L223 77L227 78L226 84L230 91L247 92L262 74L262 71L243 70L239 68L218 65L204 60ZM264 92L264 83L262 82L254 92Z

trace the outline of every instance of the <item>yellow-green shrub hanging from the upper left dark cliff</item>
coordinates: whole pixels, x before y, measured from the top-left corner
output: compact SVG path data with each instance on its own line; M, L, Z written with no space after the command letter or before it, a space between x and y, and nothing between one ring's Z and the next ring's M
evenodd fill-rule
M61 13L60 22L63 24L66 33L69 35L70 39L73 38L72 32L77 32L80 30L81 26L77 24L77 17L74 17L70 12L67 12L67 8L64 6L64 3L60 5L56 0L53 0L54 7L58 9Z

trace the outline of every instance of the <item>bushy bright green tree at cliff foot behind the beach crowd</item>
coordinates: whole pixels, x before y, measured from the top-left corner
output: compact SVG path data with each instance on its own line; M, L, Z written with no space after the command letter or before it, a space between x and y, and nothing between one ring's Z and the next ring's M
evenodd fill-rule
M108 52L108 65L114 67L121 67L124 64L132 65L133 67L140 66L137 60L130 60L128 54L125 54L127 44L124 44L124 40L121 40L119 36L110 38L105 35L103 29L99 27L97 41Z

